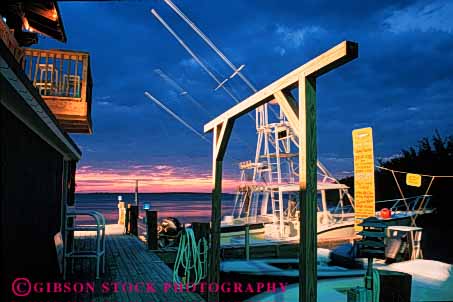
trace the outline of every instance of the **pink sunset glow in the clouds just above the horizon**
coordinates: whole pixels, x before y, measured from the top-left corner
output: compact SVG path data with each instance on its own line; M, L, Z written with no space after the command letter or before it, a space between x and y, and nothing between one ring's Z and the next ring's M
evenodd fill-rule
M208 173L169 165L131 165L109 169L81 166L76 173L76 192L133 192L136 179L142 193L212 191ZM235 192L238 185L236 179L223 179L224 192Z

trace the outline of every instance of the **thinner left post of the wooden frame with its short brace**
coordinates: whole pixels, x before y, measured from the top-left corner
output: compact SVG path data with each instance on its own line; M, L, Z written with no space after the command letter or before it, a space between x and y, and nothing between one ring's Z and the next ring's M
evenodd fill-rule
M220 281L220 220L222 199L222 164L226 147L233 130L233 122L225 120L217 125L213 135L213 165L212 165L212 206L211 206L211 252L209 253L208 282ZM208 301L219 301L218 292L209 292Z

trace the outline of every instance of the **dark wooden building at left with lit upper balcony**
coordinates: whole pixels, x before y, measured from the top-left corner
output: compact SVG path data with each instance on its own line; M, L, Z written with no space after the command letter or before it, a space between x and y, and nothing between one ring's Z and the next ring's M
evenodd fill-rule
M81 158L67 133L92 132L89 55L24 48L37 33L66 41L56 1L0 4L0 292L8 301L16 278L60 276L55 240L64 238Z

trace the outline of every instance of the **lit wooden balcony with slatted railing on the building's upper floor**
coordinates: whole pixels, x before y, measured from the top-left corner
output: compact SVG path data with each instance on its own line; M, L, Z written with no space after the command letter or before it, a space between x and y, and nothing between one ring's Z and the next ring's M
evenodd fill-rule
M64 130L92 133L90 56L24 48L22 67Z

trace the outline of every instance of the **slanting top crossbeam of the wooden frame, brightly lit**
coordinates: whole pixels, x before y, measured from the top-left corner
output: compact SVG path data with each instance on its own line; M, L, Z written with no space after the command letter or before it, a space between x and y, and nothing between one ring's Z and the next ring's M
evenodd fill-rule
M218 124L230 119L244 115L245 113L270 101L276 91L293 88L299 80L300 74L305 76L319 77L324 73L343 65L358 56L358 45L355 42L343 41L337 46L329 49L320 56L312 59L297 69L291 71L284 77L278 79L264 89L251 95L241 103L233 106L228 111L208 122L204 126L204 132L212 131Z

